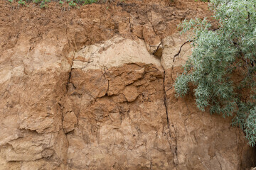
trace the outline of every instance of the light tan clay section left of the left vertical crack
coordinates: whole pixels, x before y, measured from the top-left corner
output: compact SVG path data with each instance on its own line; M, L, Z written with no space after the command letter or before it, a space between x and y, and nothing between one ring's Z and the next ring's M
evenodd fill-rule
M62 130L58 103L68 81L69 68L61 64L68 60L60 57L67 40L56 40L55 33L49 33L33 51L29 50L28 40L21 34L15 50L6 50L1 55L1 70L5 72L1 74L5 77L0 90L3 169L26 169L26 164L32 161L38 162L38 166L51 161L65 162L68 141Z

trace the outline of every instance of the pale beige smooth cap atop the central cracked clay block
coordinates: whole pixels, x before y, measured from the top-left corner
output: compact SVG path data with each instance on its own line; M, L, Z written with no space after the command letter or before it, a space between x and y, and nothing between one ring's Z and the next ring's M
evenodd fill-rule
M88 45L74 55L70 53L70 57L73 58L72 69L82 69L83 71L107 69L139 62L161 66L159 59L150 55L146 50L143 40L134 41L119 36L107 40L104 44ZM133 79L132 75L127 77L125 84L132 81L130 79Z

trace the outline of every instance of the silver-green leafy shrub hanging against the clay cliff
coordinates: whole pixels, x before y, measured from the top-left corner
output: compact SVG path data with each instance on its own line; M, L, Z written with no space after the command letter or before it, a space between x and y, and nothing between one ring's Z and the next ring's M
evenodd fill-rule
M233 125L245 132L249 144L256 142L256 1L211 0L215 21L183 21L181 32L191 33L192 55L174 87L178 96L195 86L201 111L223 117L233 115ZM211 28L218 23L218 28ZM188 31L190 30L190 31ZM234 79L235 73L240 77Z

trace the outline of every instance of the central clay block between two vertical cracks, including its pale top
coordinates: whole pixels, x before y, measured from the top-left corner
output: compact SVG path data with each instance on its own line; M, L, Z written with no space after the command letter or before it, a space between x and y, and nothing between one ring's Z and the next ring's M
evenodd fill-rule
M75 130L67 135L68 166L173 169L163 100L164 70L141 40L117 40L106 42L113 47L104 52L100 51L106 45L99 45L93 55L82 55L90 47L78 52L82 58L90 56L92 62L73 67L63 105L64 113L73 111L78 117Z

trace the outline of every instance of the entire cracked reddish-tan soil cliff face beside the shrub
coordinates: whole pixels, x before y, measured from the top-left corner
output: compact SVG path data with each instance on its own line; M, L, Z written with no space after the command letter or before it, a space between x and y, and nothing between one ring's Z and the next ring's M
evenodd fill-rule
M186 41L176 24L208 16L206 4L0 8L0 169L255 165L239 128L172 88L191 53L172 61Z

